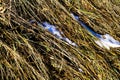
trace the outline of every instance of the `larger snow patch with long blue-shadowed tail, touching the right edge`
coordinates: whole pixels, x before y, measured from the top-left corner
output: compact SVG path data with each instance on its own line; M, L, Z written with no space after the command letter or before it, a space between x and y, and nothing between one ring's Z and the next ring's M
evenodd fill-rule
M98 38L97 41L95 41L95 43L97 45L99 45L100 47L106 48L108 50L110 50L110 48L116 48L116 47L120 47L120 42L115 40L112 36L110 36L109 34L105 34L105 35L101 35L96 33L94 30L92 30L88 25L86 25L84 22L82 22L79 19L78 15L75 15L73 13L71 13L72 17L78 21L78 23L84 27L85 29L87 29L92 35L94 35L95 37Z

